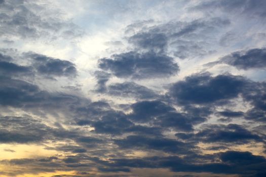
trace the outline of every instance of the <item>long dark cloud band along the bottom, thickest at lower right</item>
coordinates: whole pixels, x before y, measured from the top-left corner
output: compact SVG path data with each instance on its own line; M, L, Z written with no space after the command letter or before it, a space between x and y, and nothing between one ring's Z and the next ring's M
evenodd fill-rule
M232 155L232 156L231 156ZM193 154L192 156L195 157ZM184 156L182 158L178 156L151 156L143 158L110 158L108 160L101 160L98 157L88 157L86 155L81 156L66 156L64 159L58 159L50 157L46 159L13 159L10 161L4 161L9 164L25 165L44 165L47 169L58 169L60 167L70 169L81 169L84 171L84 167L90 168L90 165L97 165L98 170L108 171L124 171L129 172L130 167L134 168L170 168L175 172L212 172L220 174L239 174L241 176L259 176L259 174L265 173L263 166L265 165L265 158L262 156L256 156L250 152L239 151L226 151L216 153L213 155L199 156L202 159L213 160L214 158L220 160L220 162L203 162L203 163L191 163L190 158ZM235 158L233 158L235 157ZM90 163L86 163L86 161ZM3 162L3 161L2 161ZM53 164L53 166L49 166ZM58 168L54 165L57 165ZM83 169L83 170L82 170ZM42 169L39 169L42 170ZM88 173L83 173L88 174Z

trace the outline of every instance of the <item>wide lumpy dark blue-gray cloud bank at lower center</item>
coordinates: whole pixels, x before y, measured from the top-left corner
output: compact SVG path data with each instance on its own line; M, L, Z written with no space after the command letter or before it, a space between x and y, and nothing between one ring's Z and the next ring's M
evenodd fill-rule
M192 131L194 125L206 121L207 115L192 112L190 114L176 110L161 101L141 101L131 105L132 113L124 114L113 110L97 112L98 118L92 118L88 112L85 119L77 119L77 124L94 127L97 134L122 135L131 132L136 135L159 136L163 130L174 128L182 131ZM94 112L96 113L96 112ZM99 119L100 117L100 119ZM136 125L136 122L149 122L151 126Z

